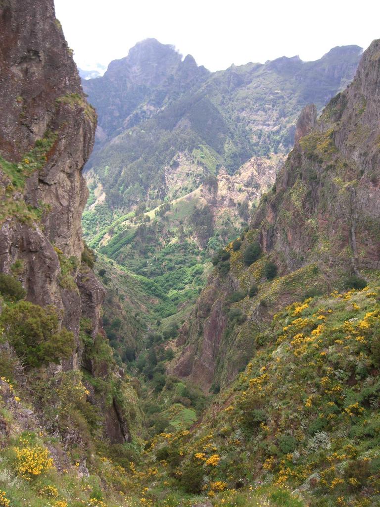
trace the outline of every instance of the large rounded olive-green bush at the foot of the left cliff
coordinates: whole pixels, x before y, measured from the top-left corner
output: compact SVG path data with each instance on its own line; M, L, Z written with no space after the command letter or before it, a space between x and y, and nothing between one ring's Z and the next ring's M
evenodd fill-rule
M53 307L42 308L20 301L12 308L4 308L0 326L4 327L7 340L25 366L59 364L74 350L73 334L65 328L59 330Z

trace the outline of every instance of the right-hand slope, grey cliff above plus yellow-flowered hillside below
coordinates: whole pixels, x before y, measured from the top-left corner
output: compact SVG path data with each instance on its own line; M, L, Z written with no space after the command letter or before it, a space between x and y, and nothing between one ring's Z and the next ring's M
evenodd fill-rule
M249 230L213 259L171 371L221 392L151 440L149 498L159 482L202 504L378 505L379 85L380 40L319 119L305 108Z

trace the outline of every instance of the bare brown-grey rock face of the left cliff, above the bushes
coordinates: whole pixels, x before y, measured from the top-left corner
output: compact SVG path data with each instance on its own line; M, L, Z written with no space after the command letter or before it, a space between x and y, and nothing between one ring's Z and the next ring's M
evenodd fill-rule
M83 313L97 331L104 291L81 267L88 196L82 168L93 147L96 115L53 0L0 4L0 75L0 271L11 273L17 261L29 301L55 305L76 337ZM68 284L61 267L70 259ZM81 302L88 299L92 305L84 312Z

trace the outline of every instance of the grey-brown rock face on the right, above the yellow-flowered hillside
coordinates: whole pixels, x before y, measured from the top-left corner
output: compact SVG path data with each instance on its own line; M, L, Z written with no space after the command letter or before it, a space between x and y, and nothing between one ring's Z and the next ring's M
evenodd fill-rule
M261 199L241 250L258 240L262 258L244 265L231 251L231 271L214 272L192 318L181 330L183 353L173 370L204 387L232 378L253 354L260 322L279 304L305 298L306 289L334 288L345 276L380 268L380 41L364 53L353 83L316 120L302 111L296 143L273 192ZM265 261L280 277L268 282ZM227 296L259 285L258 296L238 304L246 323L228 324ZM236 306L236 305L235 305ZM221 308L224 310L221 311ZM256 338L255 338L256 335ZM251 355L252 355L251 354Z

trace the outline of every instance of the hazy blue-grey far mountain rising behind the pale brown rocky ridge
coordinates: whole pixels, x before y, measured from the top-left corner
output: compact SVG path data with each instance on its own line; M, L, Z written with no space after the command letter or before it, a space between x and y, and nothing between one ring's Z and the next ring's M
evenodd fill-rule
M302 107L320 110L345 88L360 54L347 46L315 62L282 57L211 74L191 55L182 61L172 46L142 41L83 83L99 114L87 170L111 209L131 210L181 197L221 166L232 174L252 156L287 154ZM184 166L189 183L172 189L167 173Z

